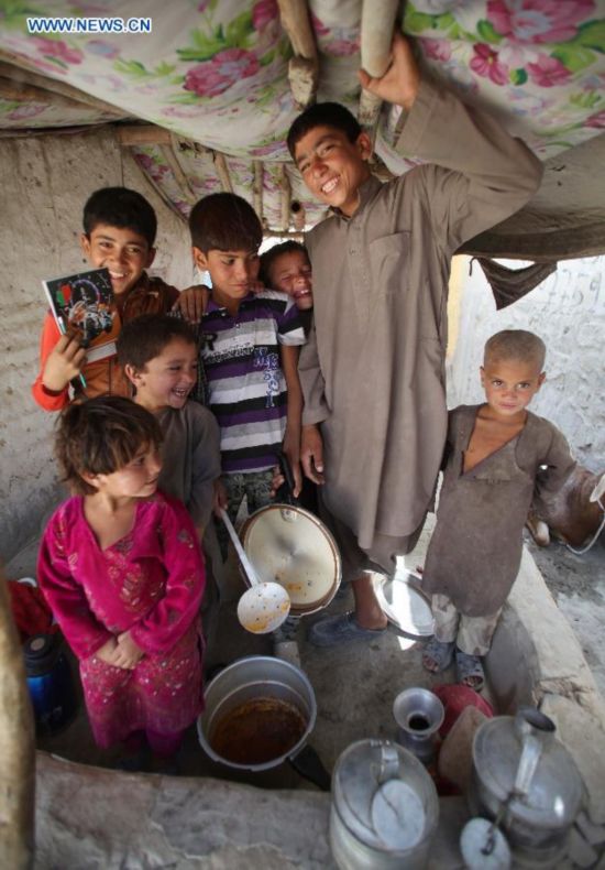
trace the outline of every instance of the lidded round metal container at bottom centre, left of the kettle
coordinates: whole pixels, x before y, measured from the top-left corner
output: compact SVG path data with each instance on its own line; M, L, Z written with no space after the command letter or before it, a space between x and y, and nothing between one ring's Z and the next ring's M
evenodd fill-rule
M330 847L341 870L420 870L438 819L431 777L397 743L360 740L338 759Z

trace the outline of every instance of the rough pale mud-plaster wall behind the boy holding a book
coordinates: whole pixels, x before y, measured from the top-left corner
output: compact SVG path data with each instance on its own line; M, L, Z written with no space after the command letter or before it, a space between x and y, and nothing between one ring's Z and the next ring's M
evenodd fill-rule
M158 217L150 270L177 287L193 283L185 224L164 204L111 130L0 140L0 559L40 530L59 491L52 458L54 414L34 403L38 340L47 308L41 281L84 267L81 211L98 187L140 191Z

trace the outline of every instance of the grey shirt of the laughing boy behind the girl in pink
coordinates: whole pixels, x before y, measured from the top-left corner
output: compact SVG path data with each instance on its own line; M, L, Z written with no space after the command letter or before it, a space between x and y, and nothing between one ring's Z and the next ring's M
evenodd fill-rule
M180 499L196 526L206 525L212 511L213 482L220 477L220 433L215 415L197 402L157 414L164 434L164 465L158 489Z

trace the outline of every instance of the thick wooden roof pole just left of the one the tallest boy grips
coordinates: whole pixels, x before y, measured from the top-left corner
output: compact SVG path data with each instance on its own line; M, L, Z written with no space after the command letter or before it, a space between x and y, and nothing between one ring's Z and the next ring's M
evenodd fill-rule
M295 54L288 64L288 80L296 104L305 109L315 101L319 81L317 44L307 0L277 0L277 6Z

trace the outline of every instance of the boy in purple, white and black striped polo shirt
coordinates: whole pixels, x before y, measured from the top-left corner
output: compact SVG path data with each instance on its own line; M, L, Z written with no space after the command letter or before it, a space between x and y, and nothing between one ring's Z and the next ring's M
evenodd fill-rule
M280 450L293 468L295 492L300 488L297 367L305 331L285 293L251 291L263 230L245 199L228 193L200 199L189 229L195 263L212 281L199 352L221 432L222 507L234 520L244 496L249 512L270 503Z

